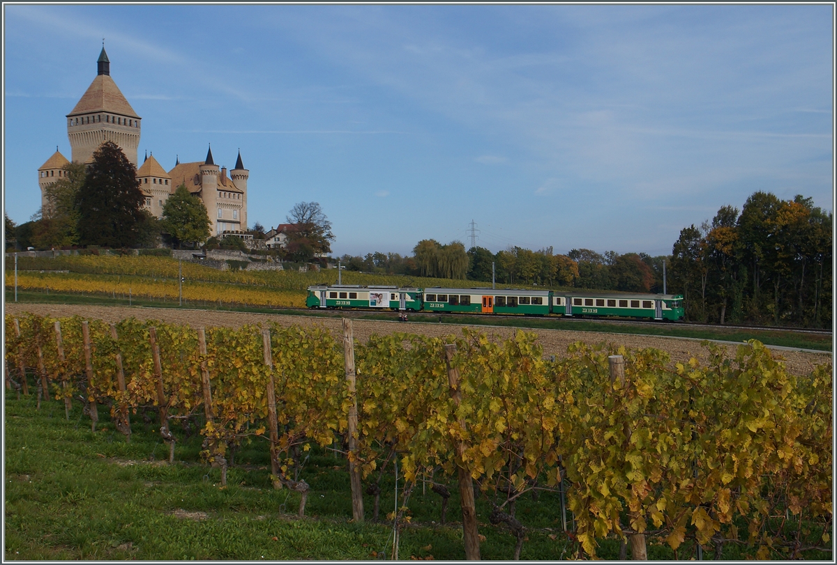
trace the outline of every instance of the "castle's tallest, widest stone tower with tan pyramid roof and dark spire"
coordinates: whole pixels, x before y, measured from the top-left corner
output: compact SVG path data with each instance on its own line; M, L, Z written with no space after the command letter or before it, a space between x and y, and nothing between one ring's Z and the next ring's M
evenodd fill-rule
M100 145L113 141L136 166L141 118L110 78L110 60L104 45L96 67L96 78L67 115L67 135L73 149L73 160L90 163L93 152Z

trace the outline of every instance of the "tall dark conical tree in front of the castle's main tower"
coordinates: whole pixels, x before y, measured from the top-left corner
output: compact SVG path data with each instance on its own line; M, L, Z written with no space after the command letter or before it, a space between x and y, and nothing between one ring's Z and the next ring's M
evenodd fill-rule
M85 184L76 197L80 244L135 246L146 217L144 201L136 167L118 145L105 141L93 154Z

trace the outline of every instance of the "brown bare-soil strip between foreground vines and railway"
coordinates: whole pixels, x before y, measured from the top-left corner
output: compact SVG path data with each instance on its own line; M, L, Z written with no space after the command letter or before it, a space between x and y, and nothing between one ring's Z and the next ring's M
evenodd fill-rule
M80 304L15 304L6 303L6 312L20 314L25 312L63 318L74 315L86 318L97 318L105 322L118 322L125 318L141 320L160 320L169 323L187 323L193 328L198 326L223 326L239 328L245 323L276 322L283 326L321 325L338 335L341 332L340 318L315 318L312 316L295 316L286 314L259 314L239 312L213 312L211 310L177 310L174 308L143 308L126 306L90 306ZM373 333L385 334L393 332L419 333L429 336L444 336L460 333L463 326L454 324L433 323L404 323L384 322L355 319L353 323L355 338L365 342ZM471 326L489 333L494 338L506 339L514 335L516 328L486 328ZM659 336L643 336L621 333L577 332L557 329L530 329L537 333L538 342L543 347L544 354L562 356L567 353L567 345L576 341L587 344L598 344L603 341L624 345L627 348L639 349L651 347L662 349L671 355L674 362L686 363L691 357L696 357L701 364L706 364L709 355L701 347L701 342L685 338L661 338ZM730 354L734 353L734 346L727 346ZM799 351L774 350L775 354L784 359L788 370L793 374L808 374L814 365L831 363L831 354L810 354Z

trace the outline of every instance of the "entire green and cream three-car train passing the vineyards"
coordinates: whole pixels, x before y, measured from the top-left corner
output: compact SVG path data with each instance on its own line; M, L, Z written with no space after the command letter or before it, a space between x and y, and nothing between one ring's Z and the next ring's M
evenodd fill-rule
M314 285L308 308L362 308L401 312L524 314L567 317L683 319L683 295L648 293L564 293L520 288L413 288Z

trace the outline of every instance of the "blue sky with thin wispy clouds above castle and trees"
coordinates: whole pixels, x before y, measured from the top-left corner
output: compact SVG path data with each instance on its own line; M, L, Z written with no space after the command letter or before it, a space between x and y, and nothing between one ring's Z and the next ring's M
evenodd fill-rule
M209 143L249 224L318 201L335 254L671 252L753 191L832 210L833 8L4 5L4 205L40 204L64 115L110 75L140 158Z

